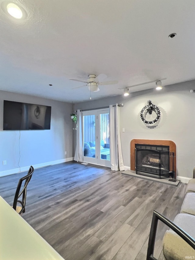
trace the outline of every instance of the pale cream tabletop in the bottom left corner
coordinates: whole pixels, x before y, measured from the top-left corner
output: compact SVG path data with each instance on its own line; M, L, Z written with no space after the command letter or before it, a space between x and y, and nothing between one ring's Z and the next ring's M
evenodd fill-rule
M0 259L64 260L1 196Z

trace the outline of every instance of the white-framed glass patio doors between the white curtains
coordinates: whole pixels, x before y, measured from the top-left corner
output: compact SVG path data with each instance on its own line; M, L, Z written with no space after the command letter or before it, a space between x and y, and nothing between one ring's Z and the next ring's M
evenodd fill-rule
M110 167L109 110L82 112L83 162Z

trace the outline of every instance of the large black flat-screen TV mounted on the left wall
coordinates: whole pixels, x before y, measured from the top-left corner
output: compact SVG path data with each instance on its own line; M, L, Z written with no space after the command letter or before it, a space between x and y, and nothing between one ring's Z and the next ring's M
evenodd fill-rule
M3 130L50 129L51 106L3 101Z

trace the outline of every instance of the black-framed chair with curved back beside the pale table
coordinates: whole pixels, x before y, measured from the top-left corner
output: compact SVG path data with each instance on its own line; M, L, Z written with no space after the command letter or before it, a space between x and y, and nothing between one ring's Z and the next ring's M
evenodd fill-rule
M33 173L34 173L34 168L33 168L33 166L30 166L28 174L26 176L22 177L21 179L19 179L18 186L16 189L16 194L15 194L14 201L13 201L13 209L15 209L19 215L21 215L22 213L25 212L27 185L28 185ZM25 180L24 187L21 190L21 186L22 186L22 183L24 180ZM21 195L22 195L22 201L18 200ZM21 206L17 206L18 202L21 204Z

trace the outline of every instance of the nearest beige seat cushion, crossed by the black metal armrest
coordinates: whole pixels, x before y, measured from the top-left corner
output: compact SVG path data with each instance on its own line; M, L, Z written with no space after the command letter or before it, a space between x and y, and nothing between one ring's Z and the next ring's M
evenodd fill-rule
M195 238L194 215L178 214L173 222ZM163 254L166 260L184 260L186 256L195 259L195 250L172 230L167 230L163 238Z

